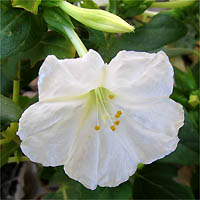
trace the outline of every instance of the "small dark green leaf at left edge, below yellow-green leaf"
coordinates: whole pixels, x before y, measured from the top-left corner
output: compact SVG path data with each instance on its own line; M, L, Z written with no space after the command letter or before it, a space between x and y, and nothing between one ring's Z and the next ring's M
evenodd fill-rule
M14 153L15 150L19 148L19 145L15 142L9 142L4 144L0 150L0 167L8 162L8 158Z

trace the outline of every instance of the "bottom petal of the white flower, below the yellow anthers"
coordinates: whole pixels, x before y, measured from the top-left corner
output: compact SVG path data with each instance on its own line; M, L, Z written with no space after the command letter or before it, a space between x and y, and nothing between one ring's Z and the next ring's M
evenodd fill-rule
M110 128L95 131L95 113L90 116L73 144L72 156L65 163L65 172L85 187L114 187L128 180L139 161ZM116 167L117 166L117 167Z

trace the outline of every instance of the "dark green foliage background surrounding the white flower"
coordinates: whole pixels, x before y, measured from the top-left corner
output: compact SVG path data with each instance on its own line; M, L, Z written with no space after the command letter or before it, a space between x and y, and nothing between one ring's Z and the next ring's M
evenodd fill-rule
M68 178L62 167L23 162L27 159L15 135L16 122L37 101L34 80L40 66L49 54L58 58L76 56L71 42L59 31L48 28L45 6L39 6L38 0L29 2L30 5L14 0L13 6L21 8L12 7L8 0L1 1L0 5L1 198L199 199L199 2L184 8L165 9L152 17L144 13L151 7L148 0L110 0L105 9L134 24L135 33L103 33L72 20L87 49L97 50L107 62L124 49L164 50L175 71L171 98L185 110L185 124L179 132L180 142L175 152L139 168L129 181L116 188L98 187L95 191ZM97 8L91 0L84 0L81 6ZM16 101L12 98L13 84L17 87L19 82L20 96Z

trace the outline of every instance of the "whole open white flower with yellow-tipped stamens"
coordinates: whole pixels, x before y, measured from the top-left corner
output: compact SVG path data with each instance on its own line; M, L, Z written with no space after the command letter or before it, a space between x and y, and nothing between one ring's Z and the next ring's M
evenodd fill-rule
M21 149L89 189L117 186L177 147L184 114L169 98L173 69L162 51L120 51L109 64L94 50L48 56L38 86L39 102L19 122Z

